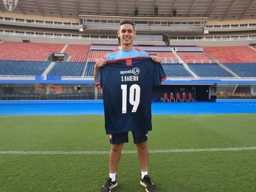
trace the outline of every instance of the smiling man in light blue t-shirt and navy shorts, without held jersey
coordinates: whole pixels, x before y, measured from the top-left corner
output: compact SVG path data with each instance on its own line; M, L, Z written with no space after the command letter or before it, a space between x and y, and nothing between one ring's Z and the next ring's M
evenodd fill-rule
M121 40L121 47L108 53L105 58L99 59L95 64L93 77L96 81L99 68L104 67L106 61L120 59L120 58L133 58L133 57L148 57L148 54L140 49L133 47L133 40L136 36L134 23L130 20L123 20L120 22L120 27L117 32ZM162 61L158 56L153 56L152 60L161 64ZM147 147L147 133L145 130L132 131L134 143L137 146L137 155L141 167L141 180L140 184L145 187L147 192L156 192L156 187L151 183L148 177L148 147ZM117 186L116 170L121 157L121 151L124 143L128 142L128 132L110 134L111 151L109 154L109 178L100 190L101 192L111 192L111 189Z

